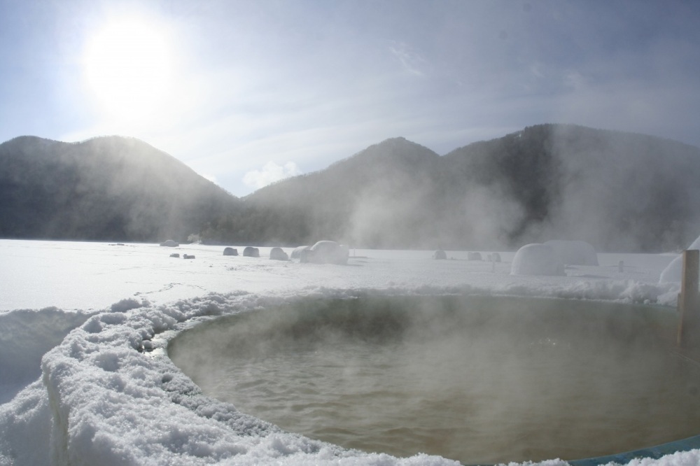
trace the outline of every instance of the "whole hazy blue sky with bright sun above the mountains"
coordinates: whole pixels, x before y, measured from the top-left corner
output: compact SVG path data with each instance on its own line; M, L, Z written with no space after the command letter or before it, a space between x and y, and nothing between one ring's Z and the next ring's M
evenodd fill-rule
M0 141L135 136L238 196L395 136L700 146L698 24L698 1L0 0Z

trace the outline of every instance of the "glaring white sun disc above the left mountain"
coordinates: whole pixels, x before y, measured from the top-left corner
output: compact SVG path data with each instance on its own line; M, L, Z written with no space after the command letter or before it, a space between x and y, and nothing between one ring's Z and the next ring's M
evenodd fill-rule
M171 55L157 24L135 18L111 22L85 49L87 85L112 117L149 117L169 92Z

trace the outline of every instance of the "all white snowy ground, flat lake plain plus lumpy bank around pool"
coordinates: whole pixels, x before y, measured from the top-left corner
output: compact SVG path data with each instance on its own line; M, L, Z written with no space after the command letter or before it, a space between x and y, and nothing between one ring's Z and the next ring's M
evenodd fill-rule
M269 260L269 248L253 258L224 256L223 246L0 240L0 465L456 464L283 432L202 395L167 358L167 341L212 316L304 296L457 292L673 307L680 290L659 283L673 254L598 254L598 266L567 266L564 276L512 275L514 252L495 263L432 255L350 250L339 266ZM700 464L700 451L635 461Z

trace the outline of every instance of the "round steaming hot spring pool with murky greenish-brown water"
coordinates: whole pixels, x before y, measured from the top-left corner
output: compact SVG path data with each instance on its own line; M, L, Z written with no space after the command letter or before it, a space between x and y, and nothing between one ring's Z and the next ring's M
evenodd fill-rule
M206 393L347 448L461 463L589 458L700 433L675 311L563 299L298 299L198 325Z

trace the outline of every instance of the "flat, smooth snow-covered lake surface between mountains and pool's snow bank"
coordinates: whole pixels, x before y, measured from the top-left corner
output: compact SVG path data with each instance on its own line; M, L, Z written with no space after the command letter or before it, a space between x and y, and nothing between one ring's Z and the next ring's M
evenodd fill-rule
M454 260L431 260L433 251L355 250L349 267L293 264L269 257L224 256L223 246L18 241L0 239L0 311L57 306L99 310L125 298L153 304L206 295L208 292L303 292L314 288L414 288L470 285L475 289L522 290L526 294L578 295L625 299L619 286L657 283L675 255L598 254L600 267L574 266L566 277L512 277L514 253L500 253L502 262L467 260L468 251L447 251ZM288 251L291 248L286 248ZM243 247L238 247L242 253ZM195 255L175 259L170 253ZM484 258L487 253L482 254ZM619 261L624 271L618 271ZM605 283L613 280L614 290ZM629 282L627 282L629 281ZM599 290L596 283L600 285ZM584 288L593 288L586 292ZM632 292L633 289L629 291ZM665 290L665 289L664 289ZM618 293L615 295L615 293ZM587 295L585 295L587 294ZM629 297L633 298L633 297Z

